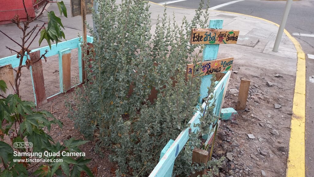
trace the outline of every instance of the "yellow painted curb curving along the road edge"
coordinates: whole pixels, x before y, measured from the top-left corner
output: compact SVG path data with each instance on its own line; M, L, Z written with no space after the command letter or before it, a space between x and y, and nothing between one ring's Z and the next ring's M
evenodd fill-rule
M149 1L150 2L150 1ZM153 4L160 5L158 3L150 2ZM163 6L163 5L160 5ZM169 7L169 6L167 6ZM183 9L170 7L175 9ZM225 12L230 14L239 14L235 12L226 12L215 10L219 12ZM252 15L239 14L244 16L249 16L252 18L264 20L268 23L276 25L277 23L272 21L255 17ZM295 76L295 91L293 95L293 106L292 106L292 116L291 116L291 133L289 141L289 155L286 168L286 177L305 177L305 80L306 80L306 63L305 63L305 53L303 52L300 43L290 35L290 33L284 29L284 33L289 37L292 43L295 45L297 51L297 68Z

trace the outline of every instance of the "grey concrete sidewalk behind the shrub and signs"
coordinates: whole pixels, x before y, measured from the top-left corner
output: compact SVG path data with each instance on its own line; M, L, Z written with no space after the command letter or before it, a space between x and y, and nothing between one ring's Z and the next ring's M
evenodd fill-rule
M62 17L62 23L65 27L64 33L66 39L72 39L78 37L78 34L82 34L82 20L80 16L71 17L70 15L70 3L69 0L65 1L68 9L68 18ZM155 30L155 24L159 14L163 13L164 7L150 3L151 20L152 20L152 34ZM49 7L48 11L55 11L58 14L57 4L53 3ZM183 16L187 17L187 20L192 20L195 10L193 9L175 9L167 8L167 13L176 16L176 21L180 24ZM221 44L219 48L218 58L230 57L235 58L235 62L239 64L250 63L252 68L262 67L266 69L276 70L278 72L295 76L297 53L294 44L284 34L281 40L281 44L278 52L273 52L272 47L278 31L278 27L267 23L263 20L258 20L252 17L247 17L240 14L230 14L225 12L210 10L210 19L222 19L224 20L223 29L240 30L240 37L238 43L256 42L255 47L249 47L239 44ZM32 25L42 24L42 21L46 21L47 16L44 14L38 21L32 23ZM91 14L87 15L87 23L92 25ZM20 40L20 30L14 24L7 24L0 26L0 29L12 37L14 40ZM5 46L13 49L17 49L17 45L10 39L1 36L0 43L0 58L12 55ZM38 39L31 45L31 49L39 47ZM46 41L43 41L41 46L46 46Z

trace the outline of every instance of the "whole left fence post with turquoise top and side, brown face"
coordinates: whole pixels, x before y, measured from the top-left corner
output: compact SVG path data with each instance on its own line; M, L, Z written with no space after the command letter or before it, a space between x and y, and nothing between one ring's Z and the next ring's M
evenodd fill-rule
M59 51L60 92L71 89L71 49Z

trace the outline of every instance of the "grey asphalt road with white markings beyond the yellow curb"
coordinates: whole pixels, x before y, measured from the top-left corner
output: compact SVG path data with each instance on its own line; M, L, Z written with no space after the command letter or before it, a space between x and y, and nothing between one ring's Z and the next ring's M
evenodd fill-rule
M168 2L167 6L197 9L200 0L152 0L154 3ZM207 0L204 0L207 3ZM209 6L234 0L210 0ZM243 0L215 10L236 12L260 17L280 24L286 1ZM300 0L292 3L285 29L293 33L309 34L311 37L294 37L306 54L306 177L314 176L314 0ZM310 55L308 55L310 54ZM313 77L312 77L313 76Z

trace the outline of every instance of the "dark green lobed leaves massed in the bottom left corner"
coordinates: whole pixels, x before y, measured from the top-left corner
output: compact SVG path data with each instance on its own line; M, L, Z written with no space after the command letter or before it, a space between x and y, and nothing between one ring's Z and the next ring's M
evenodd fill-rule
M7 85L0 80L0 89L5 93ZM93 176L90 169L86 166L90 159L84 157L73 158L67 153L81 151L78 146L85 144L85 140L64 140L63 145L55 143L51 136L46 133L50 131L52 124L58 124L62 128L60 120L53 117L47 111L34 111L35 104L30 101L21 100L17 94L10 94L4 97L0 94L0 157L2 167L0 176L28 176L28 169L37 167L33 173L38 176L53 176L54 174L66 176L80 176L84 171L88 176ZM5 124L4 121L6 121ZM4 141L4 137L10 139L11 146ZM27 139L27 141L25 141ZM32 143L32 147L16 146L16 143ZM22 153L45 154L61 152L57 156L37 157L46 161L39 166L39 163L30 163L32 157ZM18 155L21 153L21 155ZM70 170L70 166L72 166ZM60 168L61 167L61 168ZM63 170L63 173L61 171ZM71 171L71 172L70 172Z

